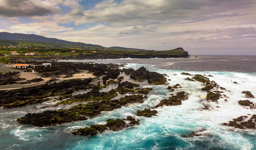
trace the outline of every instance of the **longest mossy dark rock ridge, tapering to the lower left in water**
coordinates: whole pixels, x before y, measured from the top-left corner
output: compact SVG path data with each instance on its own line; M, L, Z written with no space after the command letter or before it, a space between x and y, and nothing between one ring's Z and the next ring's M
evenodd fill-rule
M17 119L19 123L35 126L49 126L76 120L86 120L87 117L94 117L101 114L102 111L112 111L121 108L128 103L142 103L142 95L125 96L118 100L101 100L100 102L88 102L79 104L69 109L60 109L57 111L46 111L43 113L28 113L24 117ZM85 116L87 117L85 117ZM33 116L33 117L32 117ZM61 116L61 117L60 117ZM41 118L45 121L41 121ZM50 119L50 120L48 120ZM33 122L32 122L33 120ZM48 122L46 121L48 120Z

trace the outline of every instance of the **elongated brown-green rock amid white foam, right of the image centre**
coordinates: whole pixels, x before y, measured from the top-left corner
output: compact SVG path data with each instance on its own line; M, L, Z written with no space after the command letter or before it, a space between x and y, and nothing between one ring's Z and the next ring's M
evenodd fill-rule
M176 95L171 96L169 99L163 99L161 102L155 106L155 108L163 107L165 106L175 106L175 105L181 105L181 100L187 100L188 99L188 93L182 91L176 93Z

